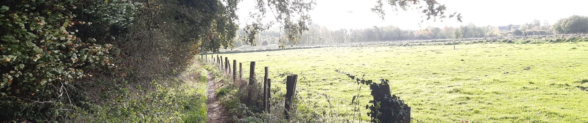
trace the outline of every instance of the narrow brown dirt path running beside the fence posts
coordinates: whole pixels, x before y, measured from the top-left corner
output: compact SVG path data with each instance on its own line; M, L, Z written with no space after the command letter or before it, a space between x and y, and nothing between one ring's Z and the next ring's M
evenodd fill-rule
M208 122L229 122L229 115L226 115L225 108L219 104L219 100L215 96L217 87L215 78L211 72L206 71L206 75L208 76L208 83L206 83L206 106L208 107L206 110L206 116L208 117Z

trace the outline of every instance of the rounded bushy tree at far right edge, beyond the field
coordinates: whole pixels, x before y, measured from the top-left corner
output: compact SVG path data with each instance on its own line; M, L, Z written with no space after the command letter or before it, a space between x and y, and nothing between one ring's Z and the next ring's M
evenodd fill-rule
M563 18L553 24L552 29L560 34L588 33L588 17L574 15Z

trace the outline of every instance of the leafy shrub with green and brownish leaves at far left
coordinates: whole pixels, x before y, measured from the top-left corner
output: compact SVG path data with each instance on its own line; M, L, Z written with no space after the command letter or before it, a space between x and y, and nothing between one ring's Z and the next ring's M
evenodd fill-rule
M78 6L92 2L103 3L35 0L0 2L0 105L6 108L2 115L8 119L59 120L59 113L67 110L56 110L53 106L57 106L58 103L71 104L85 100L83 97L69 95L79 93L76 92L76 88L80 85L74 80L92 76L85 71L114 66L109 64L110 57L106 55L113 47L112 44L99 43L95 38L81 38L76 35L78 30L74 27L92 26L92 23L96 22L81 21L72 11L81 9ZM108 10L129 12L128 15L133 15L137 8L128 6L135 4L129 5L126 2L128 1L120 1L121 5L111 3L118 7ZM106 9L95 12L103 10ZM120 19L121 16L111 16L101 20Z

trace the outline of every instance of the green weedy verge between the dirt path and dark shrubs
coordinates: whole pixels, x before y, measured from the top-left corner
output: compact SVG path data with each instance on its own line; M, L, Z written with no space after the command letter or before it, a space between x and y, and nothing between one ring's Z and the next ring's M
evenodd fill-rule
M151 88L122 87L112 101L88 103L72 122L206 122L205 85L205 70L192 64L175 78L153 80Z

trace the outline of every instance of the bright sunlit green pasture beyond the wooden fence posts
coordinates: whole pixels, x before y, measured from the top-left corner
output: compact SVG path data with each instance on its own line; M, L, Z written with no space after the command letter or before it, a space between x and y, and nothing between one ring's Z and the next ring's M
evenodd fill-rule
M588 122L588 92L582 89L588 87L588 43L455 46L220 55L243 62L244 73L248 61L257 61L258 76L263 76L263 66L269 66L275 79L281 79L275 73L302 72L308 82L299 88L346 100L352 100L358 85L335 69L365 74L366 79L389 79L392 94L412 107L413 118L425 122ZM360 103L368 104L368 87L360 94Z

